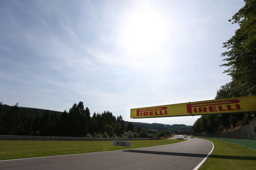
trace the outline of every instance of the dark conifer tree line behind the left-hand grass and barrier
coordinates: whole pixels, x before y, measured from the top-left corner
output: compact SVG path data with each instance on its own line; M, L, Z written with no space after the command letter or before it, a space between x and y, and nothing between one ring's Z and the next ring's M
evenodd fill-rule
M125 125L122 116L115 117L112 112L93 113L83 102L73 104L67 112L46 110L33 114L33 109L21 108L18 104L6 109L0 103L0 135L34 136L75 136L75 137L163 137L171 134L169 130L154 131ZM3 109L5 108L5 109ZM7 112L3 112L6 110ZM23 110L23 111L21 111ZM177 131L176 131L177 132Z

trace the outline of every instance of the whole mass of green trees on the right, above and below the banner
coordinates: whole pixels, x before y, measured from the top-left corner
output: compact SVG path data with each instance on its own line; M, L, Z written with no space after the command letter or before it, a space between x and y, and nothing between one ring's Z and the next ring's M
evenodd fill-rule
M256 94L256 1L245 0L241 8L229 20L240 28L223 47L229 51L222 53L227 66L224 72L232 81L221 86L215 99L234 98ZM247 125L255 121L256 113L202 115L193 125L194 134L222 132L239 124Z

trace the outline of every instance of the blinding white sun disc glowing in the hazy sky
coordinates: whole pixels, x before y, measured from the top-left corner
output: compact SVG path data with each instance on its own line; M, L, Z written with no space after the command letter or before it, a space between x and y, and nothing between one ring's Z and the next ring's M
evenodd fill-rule
M134 13L125 23L123 43L131 53L148 54L160 50L165 39L165 22L156 12Z

